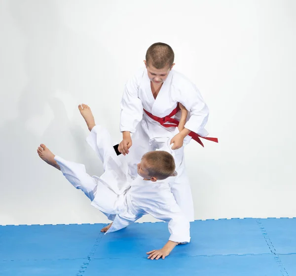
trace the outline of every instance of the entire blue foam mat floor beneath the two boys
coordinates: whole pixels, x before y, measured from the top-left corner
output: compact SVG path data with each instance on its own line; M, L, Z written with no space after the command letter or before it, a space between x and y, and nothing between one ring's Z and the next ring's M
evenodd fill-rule
M0 276L296 276L295 218L194 221L190 244L157 261L146 252L166 243L167 223L104 225L0 226Z

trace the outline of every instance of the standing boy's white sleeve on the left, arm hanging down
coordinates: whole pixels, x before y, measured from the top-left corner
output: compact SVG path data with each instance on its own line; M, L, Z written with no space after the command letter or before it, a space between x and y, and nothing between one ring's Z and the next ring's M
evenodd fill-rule
M137 78L134 76L125 85L121 99L120 131L130 131L134 133L137 124L143 117L143 104L138 97L139 86Z

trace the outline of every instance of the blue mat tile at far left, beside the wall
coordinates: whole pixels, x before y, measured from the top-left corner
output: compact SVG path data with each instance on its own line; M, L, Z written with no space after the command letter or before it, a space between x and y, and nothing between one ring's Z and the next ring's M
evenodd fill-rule
M0 260L85 258L104 224L0 227Z

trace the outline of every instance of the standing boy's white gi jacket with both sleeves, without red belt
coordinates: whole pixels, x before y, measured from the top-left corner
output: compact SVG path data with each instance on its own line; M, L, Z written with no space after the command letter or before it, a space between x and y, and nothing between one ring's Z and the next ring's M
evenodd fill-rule
M125 85L121 100L120 131L134 133L142 118L148 124L155 123L146 113L143 116L143 108L154 116L163 118L177 107L178 102L181 102L188 110L185 128L201 136L207 136L208 132L204 129L204 126L208 121L209 109L196 86L179 72L171 70L156 99L154 99L147 69L140 69ZM181 111L175 115L175 118L179 119L180 114ZM161 128L165 132L161 131ZM150 135L162 137L162 133L167 135L165 134L166 131L174 131L175 127L165 128L160 125L155 130L157 132Z

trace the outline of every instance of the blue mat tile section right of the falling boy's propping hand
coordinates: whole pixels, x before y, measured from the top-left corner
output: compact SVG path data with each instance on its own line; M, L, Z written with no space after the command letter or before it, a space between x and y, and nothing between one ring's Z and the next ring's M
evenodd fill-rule
M190 227L192 242L185 255L270 253L256 219L195 221Z

